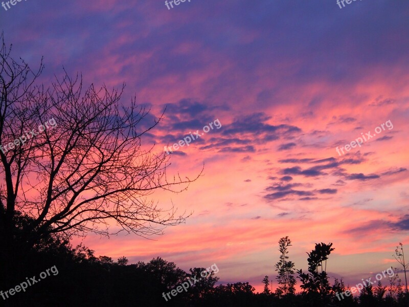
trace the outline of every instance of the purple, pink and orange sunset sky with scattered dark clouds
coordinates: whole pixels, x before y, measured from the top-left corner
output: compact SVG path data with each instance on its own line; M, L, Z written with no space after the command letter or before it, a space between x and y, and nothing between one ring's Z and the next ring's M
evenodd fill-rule
M202 134L169 158L183 178L204 164L201 176L150 196L191 213L185 224L74 243L131 263L216 264L220 282L262 291L284 236L303 270L315 243L332 242L332 280L397 266L409 243L408 17L406 0L25 0L0 7L0 28L13 56L33 68L44 57L44 84L65 69L125 82L122 103L136 97L150 119L166 107L142 140L153 151Z

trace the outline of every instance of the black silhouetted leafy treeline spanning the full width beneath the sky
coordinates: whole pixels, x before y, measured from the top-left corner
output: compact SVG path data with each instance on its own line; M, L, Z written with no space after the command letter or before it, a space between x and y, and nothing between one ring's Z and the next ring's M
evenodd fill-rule
M20 223L25 223L24 219ZM268 276L263 280L264 291L256 293L248 282L218 284L213 271L206 277L200 275L206 268L191 268L185 272L173 262L160 257L149 262L128 264L126 257L116 261L108 256L95 256L93 250L83 245L72 247L68 240L56 236L43 237L34 248L25 249L24 244L14 247L12 261L2 264L1 289L7 291L21 282L37 279L40 272L55 266L58 274L27 287L8 298L0 297L4 306L405 306L405 293L395 275L390 284L365 287L358 297L344 295L338 300L336 293L348 289L342 280L328 281L326 261L333 251L332 244L317 244L308 253L308 272L297 271L289 260L288 237L280 239L280 259L276 265L279 287L271 293ZM3 270L7 268L7 270ZM53 271L54 272L54 271ZM45 273L44 273L45 275ZM201 279L198 280L198 277ZM166 296L188 280L185 291ZM298 281L299 280L299 281ZM302 292L296 292L300 282ZM180 288L179 288L180 290ZM165 299L165 297L167 297ZM170 298L169 298L170 297Z

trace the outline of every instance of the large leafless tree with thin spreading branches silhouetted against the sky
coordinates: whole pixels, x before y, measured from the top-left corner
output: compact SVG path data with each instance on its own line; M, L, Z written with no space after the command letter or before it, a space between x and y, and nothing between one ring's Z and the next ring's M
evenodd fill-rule
M30 217L24 239L31 243L50 233L126 231L146 237L183 223L186 212L177 214L173 204L165 210L148 199L159 189L183 191L201 174L191 180L176 173L169 179L169 155L142 144L163 114L147 125L150 110L135 99L128 107L119 103L125 85L84 89L82 77L70 78L65 70L50 87L36 85L42 60L31 70L10 56L11 47L3 34L0 38L2 244L15 238L18 212ZM27 130L44 129L50 119L55 128L30 138Z

